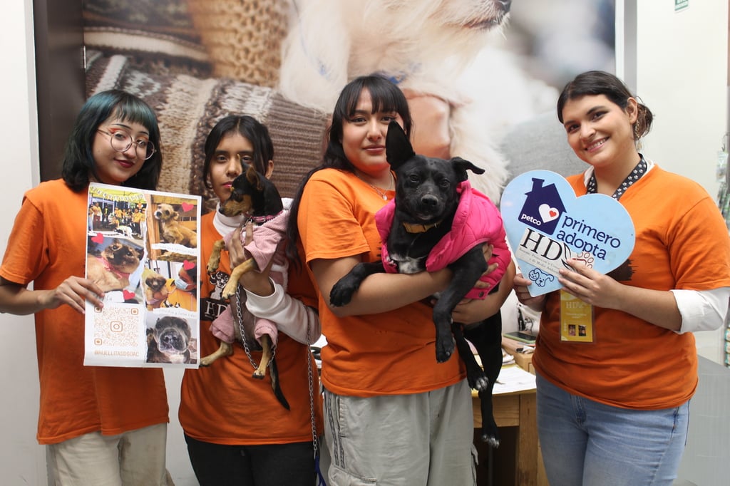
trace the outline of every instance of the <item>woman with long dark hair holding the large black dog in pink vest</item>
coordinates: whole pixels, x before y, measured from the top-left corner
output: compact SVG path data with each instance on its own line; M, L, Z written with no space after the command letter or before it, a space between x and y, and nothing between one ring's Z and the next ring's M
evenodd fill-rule
M431 294L449 270L366 277L350 304L329 304L332 286L361 261L380 261L374 214L395 195L385 158L388 123L411 134L401 90L380 76L358 77L340 93L321 166L295 198L290 239L301 239L320 290L325 436L331 485L475 484L471 390L454 356L437 363ZM459 304L454 320L499 311L514 270L484 301Z

